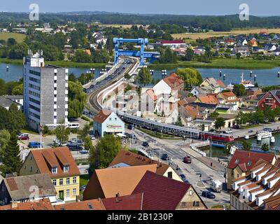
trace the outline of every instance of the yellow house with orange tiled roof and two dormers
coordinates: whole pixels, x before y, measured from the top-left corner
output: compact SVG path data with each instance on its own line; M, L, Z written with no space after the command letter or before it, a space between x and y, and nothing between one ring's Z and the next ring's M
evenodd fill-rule
M76 200L80 172L68 147L31 150L20 169L20 176L49 174L60 200Z

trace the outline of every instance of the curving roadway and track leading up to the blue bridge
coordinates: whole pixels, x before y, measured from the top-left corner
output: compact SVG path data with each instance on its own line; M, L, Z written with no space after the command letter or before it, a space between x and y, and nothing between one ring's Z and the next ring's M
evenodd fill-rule
M125 62L132 62L131 64L127 64ZM111 76L111 79L104 79L100 81L100 84L95 85L95 88L92 90L88 88L87 90L90 91L89 94L87 94L87 105L90 107L90 116L96 115L99 113L99 111L102 110L102 107L98 103L98 94L102 90L106 89L106 87L109 87L116 83L118 80L123 78L125 76L125 73L128 73L134 65L137 63L137 59L131 59L131 58L125 58L125 57L120 57L118 65L111 69L106 77ZM104 77L105 78L105 77ZM104 83L104 84L103 84ZM88 113L89 111L85 111L85 113Z

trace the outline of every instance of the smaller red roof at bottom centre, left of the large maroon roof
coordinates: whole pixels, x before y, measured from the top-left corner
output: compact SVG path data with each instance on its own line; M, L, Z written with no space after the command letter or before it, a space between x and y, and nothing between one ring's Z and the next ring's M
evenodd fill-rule
M102 199L106 210L142 210L143 193Z

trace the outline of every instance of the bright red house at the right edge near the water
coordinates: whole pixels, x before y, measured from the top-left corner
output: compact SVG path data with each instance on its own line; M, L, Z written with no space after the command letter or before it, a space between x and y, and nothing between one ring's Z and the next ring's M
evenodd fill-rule
M258 102L258 108L263 110L267 106L270 109L275 109L276 106L280 106L280 90L270 90L262 96Z

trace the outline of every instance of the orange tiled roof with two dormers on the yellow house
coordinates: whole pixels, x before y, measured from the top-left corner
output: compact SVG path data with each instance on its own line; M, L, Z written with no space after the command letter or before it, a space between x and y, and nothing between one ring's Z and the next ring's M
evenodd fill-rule
M68 147L36 149L30 153L41 174L49 174L50 178L80 176L80 171ZM63 164L69 165L69 172L64 172ZM57 167L57 174L52 174L50 165Z

